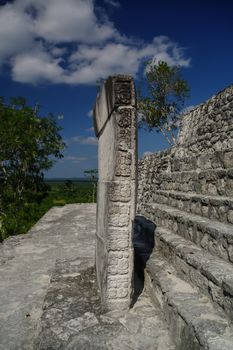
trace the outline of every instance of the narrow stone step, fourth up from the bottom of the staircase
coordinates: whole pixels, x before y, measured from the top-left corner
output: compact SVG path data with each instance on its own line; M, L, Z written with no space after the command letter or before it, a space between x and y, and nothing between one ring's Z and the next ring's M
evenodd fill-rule
M153 193L152 200L192 214L233 224L232 197L158 190Z

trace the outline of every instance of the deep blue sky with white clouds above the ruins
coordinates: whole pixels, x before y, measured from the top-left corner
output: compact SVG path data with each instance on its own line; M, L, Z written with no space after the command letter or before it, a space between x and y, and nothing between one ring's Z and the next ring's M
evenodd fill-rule
M230 0L0 0L0 96L63 115L65 157L47 177L97 167L90 111L96 80L142 75L147 59L179 64L197 105L232 83ZM166 148L139 131L139 156Z

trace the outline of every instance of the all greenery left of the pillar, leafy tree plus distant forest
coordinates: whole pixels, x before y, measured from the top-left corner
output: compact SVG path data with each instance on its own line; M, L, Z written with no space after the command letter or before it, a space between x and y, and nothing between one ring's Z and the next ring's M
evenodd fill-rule
M66 147L53 115L23 97L0 98L0 123L0 241L26 233L53 206L96 200L96 169L82 179L44 179Z

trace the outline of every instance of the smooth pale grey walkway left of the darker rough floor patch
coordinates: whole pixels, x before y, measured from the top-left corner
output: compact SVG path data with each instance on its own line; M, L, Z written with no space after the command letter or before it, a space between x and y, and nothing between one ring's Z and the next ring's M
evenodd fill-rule
M68 280L77 279L82 265L94 265L95 218L93 204L56 207L26 235L8 238L0 244L1 350L33 349L56 260L71 260L67 272L63 265ZM72 260L77 257L77 261ZM77 284L75 288L78 289ZM63 300L62 295L57 298L51 304Z

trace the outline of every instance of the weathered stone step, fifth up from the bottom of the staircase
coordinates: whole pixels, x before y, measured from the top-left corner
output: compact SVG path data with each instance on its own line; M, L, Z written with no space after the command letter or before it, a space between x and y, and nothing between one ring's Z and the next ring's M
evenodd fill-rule
M163 172L155 175L158 190L195 192L212 196L233 196L233 169Z

